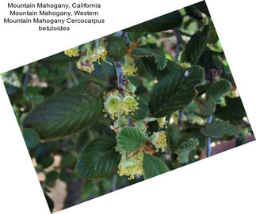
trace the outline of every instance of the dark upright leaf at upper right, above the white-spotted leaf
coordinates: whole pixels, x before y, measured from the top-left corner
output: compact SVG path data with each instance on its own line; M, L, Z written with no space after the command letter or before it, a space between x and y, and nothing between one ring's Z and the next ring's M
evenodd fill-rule
M181 55L181 62L189 62L193 65L197 65L210 38L208 32L205 31L206 29L204 28L203 32L197 32L189 39Z

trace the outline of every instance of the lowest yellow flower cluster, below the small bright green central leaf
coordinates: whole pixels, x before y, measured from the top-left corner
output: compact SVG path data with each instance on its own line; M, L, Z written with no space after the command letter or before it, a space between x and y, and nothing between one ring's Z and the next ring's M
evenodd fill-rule
M130 156L125 152L122 153L117 173L120 176L128 176L129 180L143 175L143 152L138 152Z

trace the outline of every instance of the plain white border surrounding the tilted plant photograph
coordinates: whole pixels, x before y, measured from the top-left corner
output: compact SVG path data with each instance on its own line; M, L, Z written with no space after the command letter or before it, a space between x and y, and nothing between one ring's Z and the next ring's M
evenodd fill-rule
M6 1L1 1L2 14L6 13L3 2ZM109 1L105 3L105 8L109 9L105 11L109 24L100 31L98 28L86 28L68 35L40 34L29 28L22 30L1 25L1 72L182 6L189 6L193 2L197 1ZM254 128L256 45L253 3L249 0L207 1L246 113ZM2 81L0 98L0 211L49 213ZM255 151L256 145L252 142L59 213L255 213Z

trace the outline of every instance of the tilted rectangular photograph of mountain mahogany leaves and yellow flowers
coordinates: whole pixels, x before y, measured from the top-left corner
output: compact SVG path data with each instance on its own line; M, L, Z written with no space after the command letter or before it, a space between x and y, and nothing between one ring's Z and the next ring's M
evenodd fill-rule
M206 3L2 73L51 212L254 141Z

